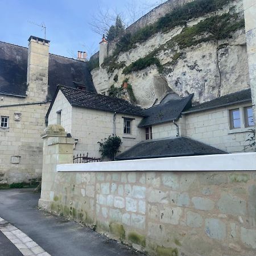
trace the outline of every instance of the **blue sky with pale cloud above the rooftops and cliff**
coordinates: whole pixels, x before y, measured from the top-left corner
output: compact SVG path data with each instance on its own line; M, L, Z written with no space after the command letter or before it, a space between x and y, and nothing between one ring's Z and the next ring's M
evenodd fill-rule
M92 31L89 23L102 13L125 16L131 23L153 9L160 0L0 0L0 41L27 47L30 35L44 38L41 27L46 25L46 39L51 53L76 57L77 51L89 54L98 51L101 36ZM131 10L135 10L131 14Z

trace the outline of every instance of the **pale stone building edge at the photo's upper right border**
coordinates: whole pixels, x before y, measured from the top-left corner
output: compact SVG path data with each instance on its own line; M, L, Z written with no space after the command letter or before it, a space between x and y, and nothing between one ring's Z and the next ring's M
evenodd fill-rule
M245 13L245 32L247 44L247 56L249 64L249 76L251 87L251 100L253 101L254 122L256 123L256 2L255 0L243 0Z

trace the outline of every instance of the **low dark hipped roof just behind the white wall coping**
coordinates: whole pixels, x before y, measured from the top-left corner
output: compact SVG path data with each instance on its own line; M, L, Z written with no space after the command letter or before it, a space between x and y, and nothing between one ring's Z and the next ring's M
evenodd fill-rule
M214 154L226 154L226 152L193 139L176 137L139 142L118 155L116 159L128 160Z

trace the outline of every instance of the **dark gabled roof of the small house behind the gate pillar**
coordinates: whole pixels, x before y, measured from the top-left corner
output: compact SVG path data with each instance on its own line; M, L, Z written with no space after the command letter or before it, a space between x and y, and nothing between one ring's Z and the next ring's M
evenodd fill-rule
M130 115L138 115L144 117L145 114L143 113L142 109L138 106L134 106L130 104L126 100L122 100L120 98L113 98L110 96L105 96L102 94L86 92L86 90L79 90L74 89L66 86L59 86L55 93L55 97L57 93L61 90L64 96L67 98L68 102L72 106L77 106L80 108L88 108L88 109L96 109L96 110L104 110L108 112L117 112L122 114L130 114ZM51 111L53 102L49 106L47 116Z

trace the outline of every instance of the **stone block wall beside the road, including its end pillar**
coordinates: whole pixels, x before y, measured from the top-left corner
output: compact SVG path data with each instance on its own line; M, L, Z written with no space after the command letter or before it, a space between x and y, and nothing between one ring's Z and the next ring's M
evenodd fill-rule
M58 132L65 136L60 128ZM65 163L65 152L68 162L72 144L67 139L46 133L40 207L92 225L150 255L256 255L255 153L237 154L242 164L234 168L230 163L237 171L225 169L225 163L226 171L216 171L213 158L218 156L210 156L215 171L207 164L201 171L200 162L208 156L154 159L162 171L154 164L142 168L145 159L56 167ZM59 156L53 158L59 154L58 143L66 147L61 162L56 160ZM249 160L248 156L250 163L243 164L242 157ZM188 165L190 158L200 171ZM167 160L170 171L163 171L161 162ZM191 171L173 171L177 162Z

